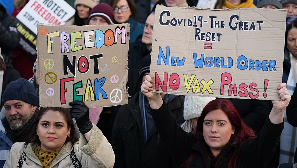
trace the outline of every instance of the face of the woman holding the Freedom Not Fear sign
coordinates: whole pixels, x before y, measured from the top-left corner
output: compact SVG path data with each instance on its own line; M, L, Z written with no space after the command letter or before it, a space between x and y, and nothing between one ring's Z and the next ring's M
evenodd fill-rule
M62 148L70 134L64 116L58 111L48 110L40 119L37 133L41 142L41 149L54 151Z

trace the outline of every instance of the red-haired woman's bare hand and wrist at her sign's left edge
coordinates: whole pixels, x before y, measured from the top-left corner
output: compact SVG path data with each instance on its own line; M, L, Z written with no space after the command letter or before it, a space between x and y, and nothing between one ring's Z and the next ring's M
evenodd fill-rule
M159 109L163 104L163 99L160 93L153 93L153 83L150 75L145 76L145 81L140 87L141 92L149 99L149 105L152 109Z

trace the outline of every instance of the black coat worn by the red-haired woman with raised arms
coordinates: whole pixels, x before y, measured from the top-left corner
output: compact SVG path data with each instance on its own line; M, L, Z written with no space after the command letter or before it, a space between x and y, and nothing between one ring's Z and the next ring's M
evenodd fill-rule
M166 103L163 103L157 110L151 109L151 112L160 139L164 142L177 166L182 165L190 154L194 153L188 168L214 168L211 166L211 161L205 162L208 160L207 154L202 154L203 147L208 150L209 147L204 145L201 140L197 140L194 134L185 132L177 125ZM265 168L276 150L283 128L284 122L272 124L267 119L256 139L242 145L236 168ZM236 146L230 146L224 151L222 161L217 168L227 167L229 156L235 148Z

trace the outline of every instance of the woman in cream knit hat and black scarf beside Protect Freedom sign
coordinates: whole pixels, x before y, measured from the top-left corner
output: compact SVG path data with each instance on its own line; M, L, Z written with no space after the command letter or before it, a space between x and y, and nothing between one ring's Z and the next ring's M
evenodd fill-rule
M84 26L89 25L88 18L91 10L99 3L99 0L75 0L75 14L65 25Z

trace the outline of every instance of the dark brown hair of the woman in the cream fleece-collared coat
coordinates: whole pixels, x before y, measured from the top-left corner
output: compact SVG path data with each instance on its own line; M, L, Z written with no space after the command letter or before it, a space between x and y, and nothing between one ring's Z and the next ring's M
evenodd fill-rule
M39 140L39 137L36 136L36 127L38 126L38 123L41 119L41 117L43 115L45 115L48 110L52 110L52 111L58 111L65 119L66 123L67 123L67 128L69 129L71 127L71 130L70 130L70 137L67 137L66 138L66 142L71 142L72 144L76 143L78 141L78 138L77 138L77 135L76 135L76 132L75 132L75 127L74 127L74 124L73 124L73 121L71 119L71 115L70 115L70 109L69 108L59 108L59 107L47 107L47 108L39 108L38 110L36 110L35 112L37 112L37 119L36 119L36 122L32 128L32 130L30 131L29 133L29 136L28 136L28 142L26 142L26 144L28 143L35 143L35 144L40 144L40 140ZM64 144L65 144L64 143Z

